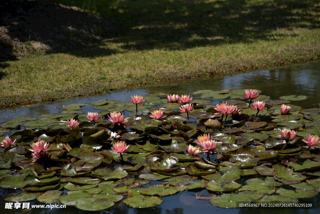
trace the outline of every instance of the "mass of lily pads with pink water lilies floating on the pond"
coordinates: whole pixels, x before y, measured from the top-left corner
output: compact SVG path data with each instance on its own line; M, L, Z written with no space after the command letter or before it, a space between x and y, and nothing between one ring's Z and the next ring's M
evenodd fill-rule
M207 189L210 203L224 208L317 195L320 108L289 104L306 96L270 100L258 93L135 95L7 121L0 128L0 187L23 192L3 198L104 210L120 202L157 206L164 196L196 189ZM86 105L99 111L84 114Z

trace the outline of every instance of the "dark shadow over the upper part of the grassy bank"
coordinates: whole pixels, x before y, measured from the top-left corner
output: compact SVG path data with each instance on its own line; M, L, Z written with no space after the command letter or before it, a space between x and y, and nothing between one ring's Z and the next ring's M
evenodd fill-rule
M319 28L317 3L318 0L5 0L0 8L0 26L5 26L6 37L0 37L0 41L13 41L2 54L12 60L10 56L19 54L13 49L15 42L28 42L31 50L45 53L97 57L115 54L119 49L184 50L276 40L297 36L290 32L292 28ZM271 32L282 28L289 33ZM106 42L115 44L115 48L108 48Z

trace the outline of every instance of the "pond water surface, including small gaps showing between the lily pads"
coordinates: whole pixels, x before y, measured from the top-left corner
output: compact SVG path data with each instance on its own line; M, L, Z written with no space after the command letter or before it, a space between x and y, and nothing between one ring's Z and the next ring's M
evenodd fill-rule
M206 105L209 107L211 105L219 104L221 101L224 101L225 98L223 98L223 93L218 94L216 91L221 90L240 90L240 89L246 89L246 88L252 88L252 89L258 89L262 91L260 98L264 98L265 100L279 100L280 96L286 96L286 95L305 95L308 98L302 99L298 101L292 101L290 105L294 106L300 106L303 109L309 109L309 108L319 108L320 103L320 62L312 62L308 64L300 64L300 65L292 65L289 67L274 69L274 70L261 70L261 71L254 71L254 72L248 72L243 74L236 74L236 75L226 75L226 76L218 76L214 78L203 78L203 79L196 79L196 80L188 80L181 83L172 82L167 85L157 85L157 86L147 86L143 87L141 89L133 89L133 90L125 90L125 91L115 91L107 95L100 95L100 96L92 96L92 97L84 97L84 98L75 98L75 99L68 99L68 100L62 100L59 102L52 102L52 103L39 103L36 105L32 105L29 107L21 107L21 108L15 108L15 109L7 109L0 111L0 124L3 124L9 120L12 120L14 118L18 117L26 117L26 118L40 118L42 115L48 115L48 114L56 114L60 112L76 112L79 111L79 113L84 112L86 114L89 111L93 112L103 112L106 111L106 109L97 110L97 108L93 109L93 105L85 105L80 107L79 110L67 110L66 106L73 103L91 103L97 100L117 100L120 102L130 102L130 96L132 95L151 95L151 96L160 96L161 99L163 99L165 94L187 94L191 95L194 100L205 100L207 101ZM203 91L203 90L212 90L212 91ZM196 94L194 93L196 92ZM207 93L207 94L206 94ZM237 93L228 92L225 93L228 94L228 98L230 98L229 95L234 96L234 99L241 101L239 96L236 96ZM217 95L218 99L213 99ZM222 96L221 96L222 95ZM264 95L264 97L262 96ZM268 97L267 97L268 96ZM149 104L152 105L154 103L157 103L155 101L150 101ZM129 105L129 104L128 104ZM99 105L96 105L99 106ZM140 106L138 106L140 107ZM147 108L147 107L146 107ZM296 107L292 107L294 109ZM127 110L131 111L127 111ZM135 106L130 106L127 109L124 109L124 116L128 117L134 117L134 114L131 113L132 109L135 109ZM177 109L177 108L175 108ZM268 109L271 110L272 107L268 106ZM146 110L146 109L145 109ZM109 109L108 111L116 111L114 109ZM147 111L147 110L146 110ZM275 110L276 111L276 110ZM262 112L262 111L261 111ZM263 122L263 113L260 114L261 121ZM309 115L310 116L310 115ZM312 115L311 115L312 116ZM310 116L310 117L311 117ZM316 115L317 116L317 115ZM79 117L80 118L80 117ZM82 118L83 119L83 118ZM230 118L228 118L230 120ZM302 118L300 119L302 120ZM40 120L37 120L40 121ZM66 121L66 120L64 120ZM106 121L104 119L104 121ZM190 118L190 123L195 123L197 120L193 117ZM230 120L231 121L231 120ZM287 120L288 121L288 120ZM179 121L180 122L180 121ZM199 121L197 121L199 122ZM270 121L267 121L270 122ZM306 122L306 121L304 121ZM32 123L29 123L29 128L32 128ZM228 124L228 123L227 123ZM304 123L303 123L304 124ZM286 125L287 126L287 125ZM302 125L303 126L303 125ZM290 126L288 126L290 127ZM298 126L299 127L299 126ZM295 126L292 126L291 128L297 128ZM24 129L23 124L21 124L21 130ZM10 132L4 132L4 136L11 135L12 131ZM246 132L247 133L247 132ZM249 133L249 132L248 132ZM250 134L250 133L249 133ZM317 133L319 135L320 133ZM271 135L270 135L271 136ZM304 137L305 138L305 137ZM263 140L263 139L262 139ZM282 146L281 146L282 147ZM159 148L159 147L158 147ZM161 147L162 148L162 147ZM305 151L305 149L304 149ZM290 152L289 152L290 153ZM295 153L292 153L294 155ZM202 155L201 157L206 158L206 155ZM214 160L217 158L217 153L210 155L211 160ZM281 159L285 157L282 156ZM316 156L315 156L316 157ZM302 158L297 157L297 163L302 164L304 160ZM2 159L3 160L3 159ZM118 157L119 160L119 157ZM317 159L316 159L317 160ZM316 162L316 160L314 162ZM215 161L212 161L214 163L217 163ZM250 167L249 167L250 168ZM245 168L243 168L245 169ZM312 168L313 169L313 168ZM319 170L318 168L316 168ZM226 171L222 171L226 172ZM314 171L312 171L314 172ZM17 174L17 173L16 173ZM241 179L237 180L238 183L241 185L245 185L245 181L247 179L255 178L255 177L261 177L258 174L252 174L248 177L241 177ZM137 175L130 174L129 178L135 178L139 179ZM262 177L261 177L262 178ZM264 178L264 177L263 177ZM151 181L145 186L152 186L152 185L160 185L163 182L161 181ZM145 187L144 186L144 187ZM284 187L285 190L294 190L292 186L289 185L282 185L281 187ZM279 188L279 187L277 187ZM319 187L317 187L319 189ZM1 195L4 196L8 193L21 193L22 191L18 188L12 189L12 188L1 188ZM63 194L66 194L68 191L64 189ZM227 193L227 192L226 192ZM229 193L229 192L228 192ZM105 211L111 212L111 213L199 213L199 212L227 212L227 213L244 213L244 212L250 212L251 210L258 211L258 212L273 212L275 210L281 211L281 212L291 212L292 209L295 209L294 211L296 213L316 213L320 209L320 195L317 194L316 196L299 199L300 204L303 203L311 203L311 208L260 208L258 210L255 210L253 208L232 208L232 209L224 209L219 208L216 206L213 206L208 199L208 197L212 197L213 194L216 194L216 196L220 196L221 193L214 193L212 191L208 191L206 188L200 188L195 190L185 190L181 191L180 193L172 194L170 196L165 196L163 198L163 202L155 207L150 208L130 208L126 206L121 200L120 202L117 202L116 205L106 209ZM197 199L198 197L198 199ZM202 200L201 200L202 199ZM38 202L37 200L28 201L31 202L31 204L42 204ZM6 201L1 198L1 210L8 213L8 209L4 209L4 204ZM18 209L20 212L22 209ZM67 208L64 209L52 209L54 212L63 212L63 213L86 213L86 211L78 210L74 206L67 206ZM10 210L14 212L14 210ZM29 211L30 213L46 213L47 209L32 209ZM104 213L104 211L99 211L101 213Z

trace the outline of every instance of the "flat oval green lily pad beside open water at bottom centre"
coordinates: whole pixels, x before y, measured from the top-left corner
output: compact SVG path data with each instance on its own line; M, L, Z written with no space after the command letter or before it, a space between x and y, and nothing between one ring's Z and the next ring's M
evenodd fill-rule
M126 198L123 201L126 205L132 208L147 208L155 207L163 202L163 199L156 196L144 197L135 196L132 198Z

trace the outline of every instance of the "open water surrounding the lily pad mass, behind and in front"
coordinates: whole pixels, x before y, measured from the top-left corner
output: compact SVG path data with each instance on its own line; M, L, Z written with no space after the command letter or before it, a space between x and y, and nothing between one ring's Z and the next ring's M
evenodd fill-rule
M248 72L237 75L218 76L214 78L203 78L197 80L189 80L180 83L169 83L166 85L147 86L133 90L115 91L111 94L74 98L61 100L59 102L39 103L28 107L20 107L0 111L0 123L8 121L12 118L38 117L41 114L58 113L63 111L62 106L70 103L90 103L99 99L116 99L127 102L131 95L152 95L158 93L164 94L192 94L192 92L203 89L224 90L224 89L244 89L253 88L262 91L263 95L270 96L270 99L279 99L283 95L307 95L308 99L303 101L294 101L292 104L300 105L303 108L315 108L320 103L320 62L312 62L308 64L293 65L274 70L261 70ZM193 95L194 96L194 95ZM196 96L194 96L196 97ZM215 100L214 103L219 103ZM91 106L84 106L84 111L94 111ZM157 184L153 182L152 184ZM1 195L15 193L17 190L0 189ZM19 191L18 191L19 192ZM164 202L157 207L146 209L132 209L124 204L117 203L107 209L111 213L162 213L162 214L182 214L182 213L291 213L294 209L295 213L317 213L320 209L320 194L313 198L300 200L300 203L312 203L312 208L237 208L223 209L212 206L209 201L196 200L195 194L209 194L206 190L201 192L183 191L176 195L163 197ZM169 199L170 197L170 199ZM41 204L36 200L31 201L32 204ZM15 213L18 210L4 209L5 201L0 199L0 210L4 213ZM48 209L33 209L28 213L47 213ZM67 206L65 209L52 209L53 213L87 213L76 209L73 206ZM100 211L97 213L105 213Z

